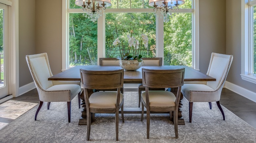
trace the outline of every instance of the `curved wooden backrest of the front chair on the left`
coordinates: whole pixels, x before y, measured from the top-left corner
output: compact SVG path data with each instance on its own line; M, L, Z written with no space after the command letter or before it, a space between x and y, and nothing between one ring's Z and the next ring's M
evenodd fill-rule
M123 69L90 71L80 69L81 83L87 89L117 89L123 87Z

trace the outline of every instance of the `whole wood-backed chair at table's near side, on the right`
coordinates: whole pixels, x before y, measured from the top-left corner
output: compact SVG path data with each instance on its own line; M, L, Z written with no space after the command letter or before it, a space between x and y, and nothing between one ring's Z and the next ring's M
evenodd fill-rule
M141 121L143 120L144 106L147 109L147 138L149 138L150 111L174 111L175 137L178 138L178 108L181 95L181 86L184 83L185 68L172 70L149 70L142 68L142 84L146 91L141 94ZM178 88L176 95L170 91L149 91L149 88Z

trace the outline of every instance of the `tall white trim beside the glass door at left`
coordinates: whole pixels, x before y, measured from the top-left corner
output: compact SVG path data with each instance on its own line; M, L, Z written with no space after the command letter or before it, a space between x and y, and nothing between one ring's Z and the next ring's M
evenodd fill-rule
M9 9L9 93L19 93L19 0L13 0Z

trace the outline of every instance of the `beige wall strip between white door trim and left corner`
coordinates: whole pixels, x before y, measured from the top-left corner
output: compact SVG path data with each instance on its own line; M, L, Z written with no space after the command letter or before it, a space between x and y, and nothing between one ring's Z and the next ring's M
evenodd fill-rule
M35 0L19 2L19 87L33 82L26 55L35 54Z

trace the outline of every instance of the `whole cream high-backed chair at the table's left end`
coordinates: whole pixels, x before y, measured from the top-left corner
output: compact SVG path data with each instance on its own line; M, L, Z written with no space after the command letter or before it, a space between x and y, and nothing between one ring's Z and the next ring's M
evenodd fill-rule
M71 119L71 100L78 94L78 105L80 107L80 81L48 81L53 76L50 69L47 53L27 55L26 60L38 91L40 104L35 113L35 120L43 102L67 102L68 122Z

